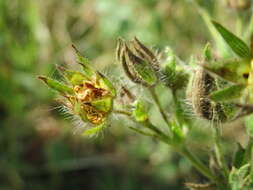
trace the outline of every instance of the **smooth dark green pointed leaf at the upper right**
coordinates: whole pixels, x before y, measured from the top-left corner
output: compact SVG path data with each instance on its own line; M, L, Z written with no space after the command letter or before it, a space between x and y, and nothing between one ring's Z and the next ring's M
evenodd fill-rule
M212 21L215 28L221 34L223 39L227 42L230 48L240 57L242 58L250 58L251 53L250 49L240 38L235 36L233 33L224 28L221 24Z

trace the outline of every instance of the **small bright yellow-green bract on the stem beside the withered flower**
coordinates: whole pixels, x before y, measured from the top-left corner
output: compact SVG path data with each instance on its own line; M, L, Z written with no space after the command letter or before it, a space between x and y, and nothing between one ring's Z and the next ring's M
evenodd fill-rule
M144 122L148 120L146 105L141 100L137 100L135 102L135 108L132 114L135 120L138 122Z

